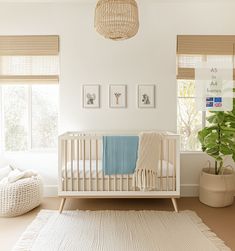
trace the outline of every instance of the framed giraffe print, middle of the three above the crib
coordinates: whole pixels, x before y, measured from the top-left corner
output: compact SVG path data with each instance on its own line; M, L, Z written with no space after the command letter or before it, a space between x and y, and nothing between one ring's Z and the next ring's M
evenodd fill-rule
M109 85L109 107L126 108L127 106L127 86Z

